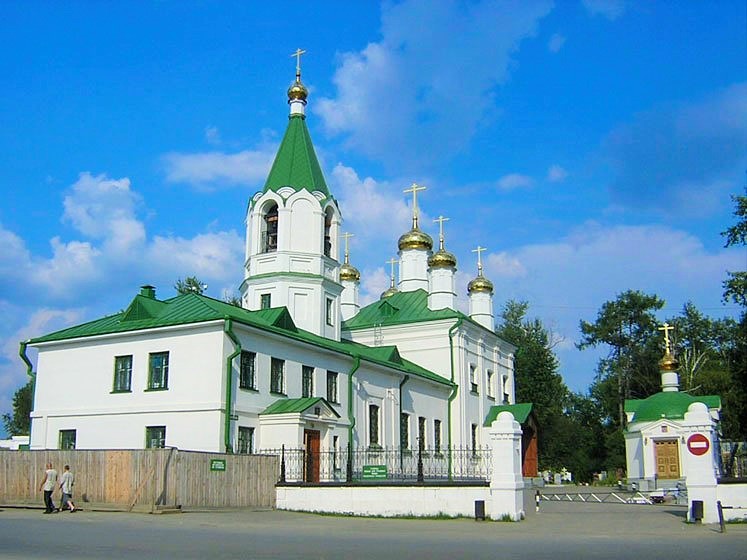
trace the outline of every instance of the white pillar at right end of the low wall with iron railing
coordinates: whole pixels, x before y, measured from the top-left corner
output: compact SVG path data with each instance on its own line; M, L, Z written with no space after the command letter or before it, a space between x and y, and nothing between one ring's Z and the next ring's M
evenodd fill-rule
M521 471L521 425L501 412L489 430L493 474L490 478L490 518L524 517L524 477Z

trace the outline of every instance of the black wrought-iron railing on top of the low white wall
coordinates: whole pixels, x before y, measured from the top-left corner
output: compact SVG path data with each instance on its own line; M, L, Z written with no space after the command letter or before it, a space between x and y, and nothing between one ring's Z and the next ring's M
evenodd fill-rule
M263 449L280 457L280 482L488 481L492 474L489 446L447 449L358 448Z

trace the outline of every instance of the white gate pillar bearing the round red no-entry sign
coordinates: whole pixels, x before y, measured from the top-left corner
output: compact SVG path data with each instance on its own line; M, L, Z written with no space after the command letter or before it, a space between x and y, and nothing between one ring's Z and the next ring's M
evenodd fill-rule
M693 501L703 502L703 522L718 523L716 455L713 448L714 422L708 407L700 402L691 404L682 423L682 470L687 484L688 521L693 517Z

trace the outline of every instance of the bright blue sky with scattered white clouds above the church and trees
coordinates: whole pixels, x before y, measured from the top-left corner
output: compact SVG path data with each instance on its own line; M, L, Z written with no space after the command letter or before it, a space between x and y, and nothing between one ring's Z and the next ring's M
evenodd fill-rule
M362 301L410 227L552 331L574 391L599 352L579 321L628 289L721 301L747 171L743 1L0 3L0 411L21 340L161 298L196 275L237 292L247 202L307 124ZM32 353L33 357L33 353ZM71 388L74 390L74 388Z

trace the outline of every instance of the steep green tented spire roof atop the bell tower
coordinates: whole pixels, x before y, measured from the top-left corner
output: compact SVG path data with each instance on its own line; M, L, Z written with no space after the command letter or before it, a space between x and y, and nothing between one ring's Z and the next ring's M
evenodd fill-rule
M291 115L263 191L277 192L282 187L320 191L329 198L329 189L303 115Z

